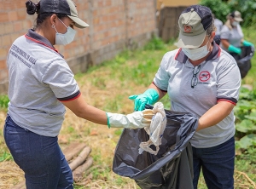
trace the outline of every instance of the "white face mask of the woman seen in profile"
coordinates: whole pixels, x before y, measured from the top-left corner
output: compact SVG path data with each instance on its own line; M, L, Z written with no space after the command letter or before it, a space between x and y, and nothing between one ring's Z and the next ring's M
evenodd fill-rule
M60 19L59 19L60 20ZM60 20L61 21L61 20ZM61 21L62 22L62 21ZM63 22L62 24L66 26ZM66 26L67 27L67 26ZM53 26L55 28L55 26ZM67 27L66 33L59 33L55 28L55 44L66 45L72 43L77 31L73 30L70 26Z

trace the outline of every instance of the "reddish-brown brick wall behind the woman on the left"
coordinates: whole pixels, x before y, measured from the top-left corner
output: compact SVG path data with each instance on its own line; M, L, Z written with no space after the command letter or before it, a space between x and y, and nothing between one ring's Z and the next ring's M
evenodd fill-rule
M77 29L73 43L55 46L74 73L112 59L123 49L143 46L156 31L156 2L141 0L73 0L79 17L90 27ZM36 2L34 0L34 2ZM26 0L0 0L0 94L8 91L6 57L17 37L32 28Z

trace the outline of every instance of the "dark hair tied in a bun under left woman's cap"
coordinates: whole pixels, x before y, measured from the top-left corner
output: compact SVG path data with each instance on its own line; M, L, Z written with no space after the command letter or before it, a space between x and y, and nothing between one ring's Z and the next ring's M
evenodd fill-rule
M56 13L39 13L40 10L40 1L38 3L32 3L31 0L26 2L26 13L27 14L38 14L38 17L36 19L36 26L34 26L33 29L37 29L38 26L41 26L44 23L44 20L46 20L49 16L51 16L52 14L56 14ZM63 18L63 17L67 17L66 14L56 14L57 17L59 19Z

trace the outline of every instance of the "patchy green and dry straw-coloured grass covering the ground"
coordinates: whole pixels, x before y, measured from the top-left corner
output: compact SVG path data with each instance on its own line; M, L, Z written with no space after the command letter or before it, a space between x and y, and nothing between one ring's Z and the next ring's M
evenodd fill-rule
M256 32L253 28L244 30L245 39L256 44ZM113 60L105 61L100 66L91 67L86 73L75 75L84 99L91 105L106 112L131 113L133 103L128 99L131 94L141 94L152 82L155 72L160 66L163 55L176 47L171 43L163 43L154 38L143 49L135 51L125 50ZM256 56L253 57L253 67L242 83L253 85L256 88ZM161 100L166 109L170 108L170 100L166 95ZM0 127L4 123L7 96L0 96L2 117ZM3 141L3 129L0 130L0 161L12 162L9 151ZM107 126L90 123L73 115L67 109L59 137L61 147L71 141L80 141L91 147L90 156L94 159L93 166L84 173L84 178L92 175L92 180L86 186L83 182L76 183L76 189L82 188L139 188L133 180L113 174L112 161L115 146L122 129L108 129ZM256 181L255 152L253 148L236 156L236 170L245 172L251 180ZM1 166L0 166L1 167ZM9 184L16 183L17 179L9 178ZM237 180L247 182L245 177ZM8 184L8 183L7 183ZM7 186L6 186L7 187ZM200 179L199 189L206 188L204 180ZM249 187L248 187L249 188Z

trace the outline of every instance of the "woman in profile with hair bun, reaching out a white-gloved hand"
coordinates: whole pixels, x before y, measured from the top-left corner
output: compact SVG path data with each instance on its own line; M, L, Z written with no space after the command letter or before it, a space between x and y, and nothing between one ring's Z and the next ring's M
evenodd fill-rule
M113 128L150 125L143 112L104 112L86 103L67 61L54 45L75 37L79 19L72 0L26 2L27 14L38 14L36 26L9 49L9 107L3 135L15 163L25 172L27 189L73 188L73 175L58 144L65 106L78 117Z

